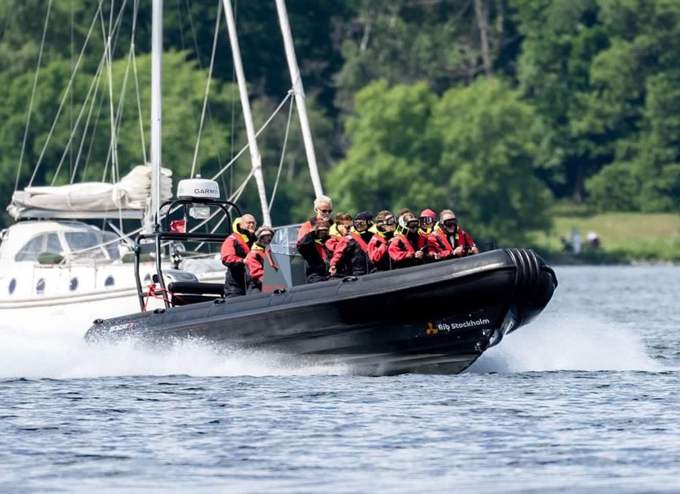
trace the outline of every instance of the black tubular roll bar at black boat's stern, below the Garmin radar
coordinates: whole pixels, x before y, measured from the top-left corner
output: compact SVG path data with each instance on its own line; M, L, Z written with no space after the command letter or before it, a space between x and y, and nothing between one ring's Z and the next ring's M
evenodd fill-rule
M221 209L222 213L224 213L227 219L226 234L170 231L170 213L173 213L178 209L182 209L184 212L184 218L186 218L189 212L189 207L193 205L217 207ZM163 211L165 208L167 208L168 213L160 222L158 221L158 218L156 218L154 232L139 234L139 236L137 236L137 241L135 242L135 281L137 282L139 308L141 308L142 311L144 310L145 306L144 297L148 295L147 292L143 291L141 287L141 278L139 277L139 265L141 264L141 245L144 243L144 241L154 241L156 252L156 274L158 275L158 281L156 282L154 280L153 282L158 283L160 285L160 292L165 294L167 293L167 290L165 287L165 279L163 278L163 266L161 262L163 255L163 241L222 243L224 242L224 239L226 239L226 237L231 234L232 219L229 210L233 208L237 213L237 217L241 216L241 209L234 202L214 198L177 198L163 202L158 210ZM163 302L165 303L166 308L170 306L170 302L167 297L163 297Z

